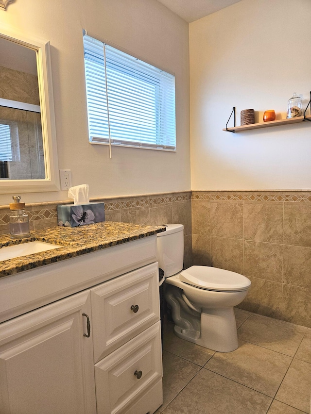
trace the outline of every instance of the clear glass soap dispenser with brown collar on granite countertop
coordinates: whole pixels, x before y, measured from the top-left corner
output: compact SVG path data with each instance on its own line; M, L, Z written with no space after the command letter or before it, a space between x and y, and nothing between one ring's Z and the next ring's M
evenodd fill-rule
M29 236L29 217L25 213L25 203L20 203L20 196L13 196L14 203L10 203L10 234L12 239Z

